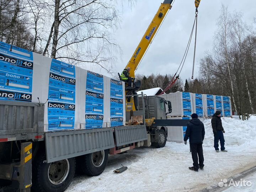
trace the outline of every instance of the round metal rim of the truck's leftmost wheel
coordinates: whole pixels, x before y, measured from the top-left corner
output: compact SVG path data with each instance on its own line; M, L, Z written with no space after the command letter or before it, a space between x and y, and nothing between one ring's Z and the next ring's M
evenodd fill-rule
M69 174L69 161L67 159L52 162L48 169L48 178L53 185L59 185L66 180Z

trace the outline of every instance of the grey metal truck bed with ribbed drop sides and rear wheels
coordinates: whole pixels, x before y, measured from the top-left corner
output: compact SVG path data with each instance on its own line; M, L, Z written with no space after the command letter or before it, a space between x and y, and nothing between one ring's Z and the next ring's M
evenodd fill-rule
M82 170L89 171L87 175L99 175L105 169L108 153L133 149L148 139L145 124L44 132L44 107L39 103L0 101L0 179L12 181L21 190L29 191L33 181L38 191L63 191L74 176L74 166L82 165ZM65 166L56 167L56 162ZM42 167L47 167L47 174L42 174L47 171ZM55 169L62 170L58 174ZM33 180L32 172L38 175ZM50 174L63 178L51 180ZM45 181L47 176L52 182ZM46 177L42 183L40 177ZM56 190L55 186L60 187Z

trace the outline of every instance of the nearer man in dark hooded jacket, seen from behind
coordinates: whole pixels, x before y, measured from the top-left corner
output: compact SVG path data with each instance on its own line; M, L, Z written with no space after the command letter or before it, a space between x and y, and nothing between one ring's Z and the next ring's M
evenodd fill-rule
M203 157L203 140L204 140L204 124L198 119L196 113L191 115L192 119L187 124L187 130L184 137L184 142L187 144L189 138L191 154L193 159L193 167L188 167L192 171L198 171L200 168L203 170L204 157ZM198 156L197 156L198 155ZM199 159L199 164L198 164Z

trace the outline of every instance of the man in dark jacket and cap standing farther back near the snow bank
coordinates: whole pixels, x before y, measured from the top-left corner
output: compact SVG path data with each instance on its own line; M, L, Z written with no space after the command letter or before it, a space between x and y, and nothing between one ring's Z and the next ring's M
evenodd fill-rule
M225 130L222 127L221 121L221 111L217 110L212 117L212 128L214 134L214 148L216 152L219 152L219 141L220 141L220 150L223 152L228 152L225 150L225 139L223 133Z

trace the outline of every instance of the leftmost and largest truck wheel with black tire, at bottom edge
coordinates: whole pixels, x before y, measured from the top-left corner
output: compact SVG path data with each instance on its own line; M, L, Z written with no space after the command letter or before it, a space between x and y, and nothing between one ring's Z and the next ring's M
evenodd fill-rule
M34 192L63 192L75 174L75 158L44 163L45 155L32 164L32 190Z

